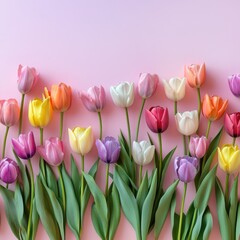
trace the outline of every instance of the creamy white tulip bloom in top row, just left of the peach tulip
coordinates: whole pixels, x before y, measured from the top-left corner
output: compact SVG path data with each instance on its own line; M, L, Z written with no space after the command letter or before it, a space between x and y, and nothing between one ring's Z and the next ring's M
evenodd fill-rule
M171 78L169 81L163 80L163 87L168 99L180 101L185 96L186 79Z

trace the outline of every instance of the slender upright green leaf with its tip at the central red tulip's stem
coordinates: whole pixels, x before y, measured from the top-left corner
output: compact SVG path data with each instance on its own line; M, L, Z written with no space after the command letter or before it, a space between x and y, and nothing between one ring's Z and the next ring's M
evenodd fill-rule
M141 216L142 239L147 239L147 234L151 222L154 199L156 196L156 190L157 190L157 170L154 171L153 181L142 207Z

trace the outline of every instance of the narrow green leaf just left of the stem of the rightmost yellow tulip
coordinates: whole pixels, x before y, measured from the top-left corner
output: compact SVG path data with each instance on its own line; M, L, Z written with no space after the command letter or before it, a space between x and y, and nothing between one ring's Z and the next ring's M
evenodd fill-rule
M231 224L226 211L225 198L222 192L221 183L218 178L216 178L215 183L215 191L216 191L216 201L217 201L217 213L218 213L218 223L220 227L220 232L222 239L231 240Z

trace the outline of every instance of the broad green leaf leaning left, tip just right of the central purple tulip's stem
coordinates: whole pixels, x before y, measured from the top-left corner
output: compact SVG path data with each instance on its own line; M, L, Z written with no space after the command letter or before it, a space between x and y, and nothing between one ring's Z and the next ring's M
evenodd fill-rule
M113 180L114 180L114 184L118 189L123 212L126 218L128 219L128 221L130 222L130 224L135 229L137 239L141 239L140 216L139 216L137 200L135 199L129 186L124 182L124 180L119 175L118 168L116 167L115 167Z

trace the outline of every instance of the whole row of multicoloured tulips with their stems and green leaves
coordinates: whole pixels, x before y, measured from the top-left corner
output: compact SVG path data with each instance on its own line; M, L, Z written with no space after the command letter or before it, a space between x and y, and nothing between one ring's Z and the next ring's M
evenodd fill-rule
M211 140L211 124L220 119L226 111L228 100L206 94L201 98L200 88L206 79L205 64L185 67L185 77L163 80L166 97L174 102L176 128L183 138L183 155L174 159L174 168L178 180L167 189L163 189L166 171L176 148L166 156L162 151L162 133L169 126L168 109L161 106L144 109L145 103L157 89L159 78L149 73L140 74L138 94L142 105L136 124L136 137L132 141L128 108L134 101L134 84L123 82L110 88L112 100L116 106L125 110L128 137L121 132L118 139L112 136L103 138L101 112L106 104L106 93L102 86L91 87L79 94L83 105L96 112L99 119L99 139L95 141L98 159L89 172L85 171L85 156L94 144L91 126L68 129L69 144L73 152L81 158L81 170L71 156L71 171L67 172L64 163L63 122L64 113L72 103L71 87L64 83L53 85L49 91L44 89L43 99L29 102L28 118L33 127L40 130L40 145L36 146L32 132L23 133L22 119L25 95L39 79L34 68L19 66L18 89L22 94L21 107L15 99L0 101L0 122L6 126L3 141L0 179L6 186L0 186L5 203L9 225L18 239L34 239L39 220L50 239L65 239L66 224L76 239L81 238L84 213L92 194L92 221L101 239L113 239L120 220L122 208L127 220L133 226L137 239L146 239L153 229L158 239L168 212L171 212L173 239L207 239L212 229L212 216L208 201L215 185L216 202L220 231L223 239L238 239L240 235L240 207L238 201L238 177L240 168L240 150L235 140L240 136L240 113L225 114L224 128L233 138L231 145L219 148L222 129ZM185 96L186 82L195 88L198 96L198 109L178 112L178 101ZM229 77L229 86L235 96L240 96L240 76ZM59 137L43 140L43 129L52 119L53 111L60 114ZM156 133L159 146L148 140L139 141L139 129L142 114L149 129ZM206 135L198 136L199 124L203 116L208 120ZM12 139L16 161L7 157L5 148L9 128L19 122L19 136ZM158 149L158 150L157 150ZM38 152L39 173L34 176L31 158ZM214 155L218 151L219 166L226 172L226 184L223 190L216 176L217 165L212 166ZM21 159L26 160L22 162ZM106 163L105 191L98 187L95 177L99 159ZM154 168L148 175L143 166L154 159ZM109 165L115 164L110 173ZM54 168L58 175L55 176ZM138 172L138 174L137 174ZM230 188L230 175L235 177ZM138 175L138 176L137 176ZM109 181L109 178L111 179ZM184 183L184 192L180 213L176 208L176 188L179 180ZM187 184L195 182L196 196L189 210L184 213ZM15 183L14 191L9 184ZM13 188L13 187L12 187Z

